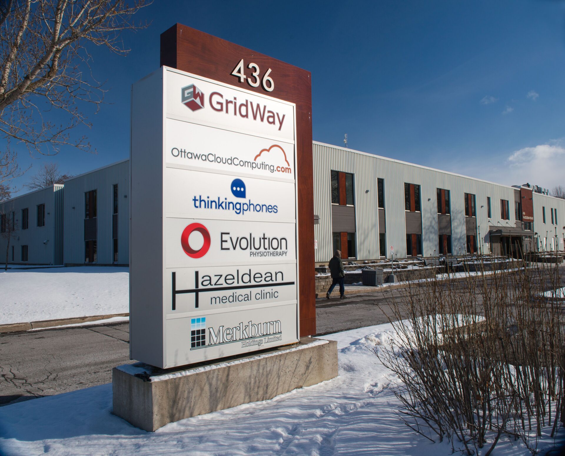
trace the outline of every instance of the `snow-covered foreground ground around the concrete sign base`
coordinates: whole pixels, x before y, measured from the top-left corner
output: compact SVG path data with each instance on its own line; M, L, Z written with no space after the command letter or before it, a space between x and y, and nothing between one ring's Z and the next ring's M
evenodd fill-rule
M0 454L452 454L448 442L433 444L399 418L399 401L388 388L395 377L371 351L390 337L389 324L327 335L338 343L339 377L270 401L170 423L154 433L112 415L111 385L0 407ZM562 440L563 435L560 431ZM539 448L551 445L544 432ZM530 453L505 438L492 454Z

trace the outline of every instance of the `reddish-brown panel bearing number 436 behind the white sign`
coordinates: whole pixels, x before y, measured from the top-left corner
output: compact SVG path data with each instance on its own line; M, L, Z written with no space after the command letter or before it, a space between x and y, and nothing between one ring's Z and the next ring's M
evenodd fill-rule
M270 77L275 80L273 90L266 92L261 84L258 87L251 87L245 80L240 82L236 76L233 76L232 71L240 59L257 64L262 74L267 68L271 68ZM181 24L175 24L161 34L160 64L252 92L267 94L296 105L297 163L295 169L297 170L298 191L300 337L316 334L310 72Z

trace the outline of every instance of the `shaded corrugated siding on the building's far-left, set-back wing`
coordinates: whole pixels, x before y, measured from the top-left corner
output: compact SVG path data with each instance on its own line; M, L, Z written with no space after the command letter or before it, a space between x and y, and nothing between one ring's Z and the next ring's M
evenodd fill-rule
M15 212L19 229L14 231L10 246L14 246L13 263L21 263L21 246L28 246L28 264L60 264L60 199L62 186L56 185L15 197L0 204L0 212ZM55 196L56 195L56 196ZM37 205L45 204L45 225L37 226ZM21 229L21 209L28 208L28 229ZM0 236L0 261L5 259L7 240ZM10 248L11 250L11 248ZM11 252L8 257L12 263Z

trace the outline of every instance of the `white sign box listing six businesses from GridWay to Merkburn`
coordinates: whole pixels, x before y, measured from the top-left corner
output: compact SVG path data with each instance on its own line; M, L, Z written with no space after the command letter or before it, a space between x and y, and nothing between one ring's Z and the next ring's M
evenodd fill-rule
M162 76L151 79L163 85L161 169L154 147L132 146L132 226L157 239L134 245L132 236L134 256L146 251L153 261L132 261L131 287L142 300L159 277L161 302L143 305L161 306L163 324L133 319L132 331L153 337L155 328L165 368L297 342L295 106L170 68ZM155 111L143 94L149 104L159 93L142 86L139 123ZM145 232L144 202L162 210L147 210Z

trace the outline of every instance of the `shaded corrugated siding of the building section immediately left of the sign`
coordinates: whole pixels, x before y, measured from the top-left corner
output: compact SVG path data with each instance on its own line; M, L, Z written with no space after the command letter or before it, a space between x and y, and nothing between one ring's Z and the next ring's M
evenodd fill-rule
M98 263L113 263L114 184L118 184L118 263L129 263L129 160L124 160L65 182L66 264L84 263L84 193L90 190L97 191Z

